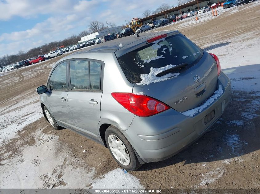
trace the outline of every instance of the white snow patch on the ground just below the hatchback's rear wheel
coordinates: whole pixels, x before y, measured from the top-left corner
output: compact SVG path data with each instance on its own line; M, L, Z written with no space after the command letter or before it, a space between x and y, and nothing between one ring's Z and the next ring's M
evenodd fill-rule
M114 169L106 173L103 177L95 179L91 186L93 186L93 189L144 188L144 186L139 183L139 179L130 173L124 173L120 168Z

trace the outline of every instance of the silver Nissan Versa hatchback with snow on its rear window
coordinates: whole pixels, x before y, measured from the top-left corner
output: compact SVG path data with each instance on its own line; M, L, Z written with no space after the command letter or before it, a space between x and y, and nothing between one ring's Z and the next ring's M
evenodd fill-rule
M52 127L107 146L122 168L136 170L201 137L230 102L231 84L216 55L167 31L68 55L37 92Z

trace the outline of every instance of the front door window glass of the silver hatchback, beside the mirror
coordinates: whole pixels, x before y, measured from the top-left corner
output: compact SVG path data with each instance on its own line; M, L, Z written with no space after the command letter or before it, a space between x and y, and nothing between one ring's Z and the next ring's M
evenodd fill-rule
M66 85L66 62L59 64L50 76L51 90L67 90Z

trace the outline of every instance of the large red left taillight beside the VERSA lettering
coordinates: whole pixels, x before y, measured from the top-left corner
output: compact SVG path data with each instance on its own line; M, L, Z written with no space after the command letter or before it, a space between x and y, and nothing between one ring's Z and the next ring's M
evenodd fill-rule
M136 116L147 117L170 107L154 98L134 93L111 93L116 101Z

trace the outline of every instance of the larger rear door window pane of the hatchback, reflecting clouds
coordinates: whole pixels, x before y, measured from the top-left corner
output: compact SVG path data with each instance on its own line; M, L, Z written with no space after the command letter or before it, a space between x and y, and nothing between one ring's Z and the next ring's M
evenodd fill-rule
M70 61L70 83L72 90L90 90L88 61Z

